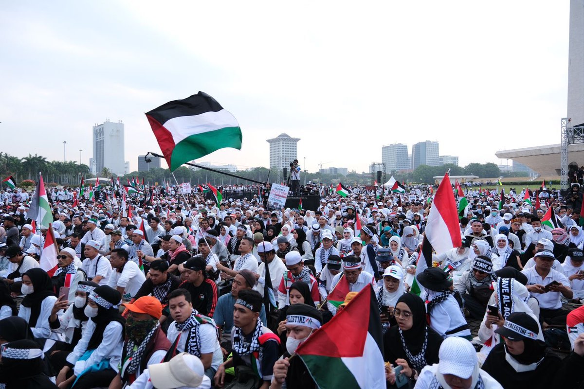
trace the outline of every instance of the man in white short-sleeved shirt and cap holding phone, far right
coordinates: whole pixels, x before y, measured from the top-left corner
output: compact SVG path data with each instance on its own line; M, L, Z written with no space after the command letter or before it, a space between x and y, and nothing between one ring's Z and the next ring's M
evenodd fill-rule
M523 269L527 276L527 290L540 303L540 321L547 324L566 325L566 314L562 310L561 297L573 298L570 282L564 273L551 268L554 262L554 253L538 251L534 256L536 265Z

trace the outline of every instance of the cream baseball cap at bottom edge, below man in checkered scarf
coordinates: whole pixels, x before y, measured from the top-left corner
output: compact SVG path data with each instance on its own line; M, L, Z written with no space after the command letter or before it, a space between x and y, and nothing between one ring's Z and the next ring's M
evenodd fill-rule
M170 362L150 365L148 370L152 385L158 389L196 388L203 383L205 374L203 362L186 352L176 355Z

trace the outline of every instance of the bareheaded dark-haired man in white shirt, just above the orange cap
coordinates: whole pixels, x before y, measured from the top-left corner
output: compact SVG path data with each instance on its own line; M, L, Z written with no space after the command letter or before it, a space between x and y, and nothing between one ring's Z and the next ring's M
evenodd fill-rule
M123 248L114 248L110 254L110 264L113 272L107 285L117 289L123 300L129 301L138 293L142 283L146 281L144 271L128 260L128 252Z

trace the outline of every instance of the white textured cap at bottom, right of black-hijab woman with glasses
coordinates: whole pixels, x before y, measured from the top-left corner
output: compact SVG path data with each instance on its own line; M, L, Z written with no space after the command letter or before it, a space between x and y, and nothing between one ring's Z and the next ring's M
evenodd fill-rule
M477 366L477 352L467 339L449 337L444 339L438 352L441 374L453 374L461 379L468 379Z

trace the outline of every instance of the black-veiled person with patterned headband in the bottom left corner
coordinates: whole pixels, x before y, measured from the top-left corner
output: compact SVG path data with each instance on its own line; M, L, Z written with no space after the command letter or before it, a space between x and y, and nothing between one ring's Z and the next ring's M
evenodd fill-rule
M6 389L56 389L44 373L44 353L40 346L27 339L13 341L2 348L0 383Z

